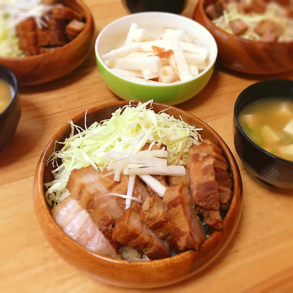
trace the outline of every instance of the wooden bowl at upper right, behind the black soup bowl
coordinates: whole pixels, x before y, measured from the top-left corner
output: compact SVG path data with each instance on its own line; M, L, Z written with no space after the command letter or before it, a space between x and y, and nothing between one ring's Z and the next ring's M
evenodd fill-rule
M206 15L205 7L217 0L199 0L194 20L215 38L219 62L232 70L248 74L279 74L293 70L293 42L260 42L239 38L217 27ZM285 4L285 1L277 1Z

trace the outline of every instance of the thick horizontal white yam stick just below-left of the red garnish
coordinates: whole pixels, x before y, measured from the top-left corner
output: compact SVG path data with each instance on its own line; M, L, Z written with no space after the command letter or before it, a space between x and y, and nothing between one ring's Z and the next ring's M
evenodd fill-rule
M131 70L149 70L159 72L162 68L163 61L157 56L136 57L136 58L119 58L115 60L114 67Z

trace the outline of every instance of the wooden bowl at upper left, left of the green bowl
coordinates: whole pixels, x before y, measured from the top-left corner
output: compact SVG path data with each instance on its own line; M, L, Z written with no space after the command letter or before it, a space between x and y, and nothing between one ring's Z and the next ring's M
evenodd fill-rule
M52 52L22 58L0 58L0 64L14 72L20 86L40 85L56 80L74 71L88 57L95 37L92 14L81 0L62 0L62 3L85 17L83 31L73 41Z

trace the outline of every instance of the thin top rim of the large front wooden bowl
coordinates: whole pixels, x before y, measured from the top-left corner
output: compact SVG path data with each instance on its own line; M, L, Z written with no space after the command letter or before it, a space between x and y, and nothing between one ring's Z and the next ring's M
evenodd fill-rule
M132 102L132 104L137 104L139 101L130 101ZM73 119L71 119L73 121L73 123L75 123L77 120L82 119L83 117L85 117L85 114L87 112L87 114L92 114L95 112L98 112L100 110L106 109L108 107L123 107L125 105L128 105L130 103L129 101L119 101L119 102L113 102L113 103L109 103L109 104L103 104L100 106L96 106L93 108L90 108L87 111L82 112L81 114L78 114L77 116L75 116ZM141 102L145 102L145 101L141 101ZM225 141L219 136L219 134L217 132L215 132L215 130L210 127L208 124L206 124L204 121L202 121L200 118L184 111L181 110L179 108L176 108L174 106L169 106L163 103L157 103L157 102L153 102L153 105L159 105L161 107L166 107L167 108L172 108L173 110L175 110L176 112L178 112L178 114L184 114L186 116L188 116L189 118L191 118L194 122L199 121L200 123L203 124L203 126L205 127L204 129L209 129L212 132L212 136L217 140L218 143L221 144L221 149L222 151L224 151L225 155L227 156L227 161L229 162L230 168L231 168L231 173L232 173L232 179L233 179L233 198L232 201L230 203L230 207L229 210L225 216L225 219L223 220L223 227L229 226L230 225L230 218L233 218L233 212L235 209L237 209L237 204L239 204L239 201L241 202L241 208L240 208L240 214L242 211L242 179L241 179L241 173L239 170L239 167L237 165L237 162L235 160L235 157L232 154L232 151L229 149L229 147L227 146L227 144L225 143ZM168 113L168 111L166 111L166 113ZM52 137L52 139L50 140L50 142L48 143L48 145L45 147L45 150L43 151L37 168L36 168L36 172L35 172L35 176L34 176L34 196L35 197L40 197L40 202L41 205L44 209L43 212L46 213L47 215L47 219L48 221L50 221L50 225L53 225L56 229L56 233L62 234L63 238L65 237L67 239L67 241L71 244L71 247L75 247L75 249L78 251L82 251L86 254L92 255L93 257L97 258L97 259L102 259L102 260L106 260L112 263L117 263L117 264L125 264L125 265L131 265L131 266L136 266L138 269L140 267L145 267L145 266L156 266L162 263L168 263L168 260L172 259L173 262L181 262L183 259L190 259L190 258L194 258L196 257L196 255L201 251L197 251L197 250L187 250L184 251L182 253L179 253L178 255L175 256L171 256L165 259L158 259L158 260L151 260L151 261L128 261L128 260L123 260L123 259L112 259L110 257L107 256L103 256L103 255L99 255L96 254L86 248L84 248L83 246L81 246L80 244L78 244L77 242L75 242L73 239L71 239L69 236L67 236L66 233L64 233L60 227L57 225L57 223L55 222L55 220L52 217L51 212L49 211L49 207L48 204L45 200L45 195L44 195L44 183L43 183L43 176L44 176L44 170L45 170L45 166L46 164L46 160L48 158L48 156L50 154L48 154L49 149L55 144L55 141L57 140L58 136L60 136L61 133L65 132L68 128L70 128L71 126L69 125L69 123L67 122L65 125L63 125L57 132L56 134ZM235 184L237 183L237 184ZM238 189L236 188L236 186L238 185ZM240 215L238 216L238 221L239 221ZM49 225L48 223L46 225ZM235 229L238 225L238 222L236 223ZM233 237L233 234L235 232L235 229L232 230L228 235L227 235L227 240L226 243L228 243L231 238ZM215 242L217 243L216 239L217 238L221 238L223 237L224 231L223 230L215 230L210 237L208 237L204 243L201 245L201 248L205 248L209 246L209 243L211 242ZM217 237L217 235L220 235L220 237ZM215 240L214 240L215 239ZM225 247L225 245L224 245ZM219 250L219 252L221 252L224 247L221 247ZM212 255L212 257L207 261L206 266L213 261L213 259L215 259L216 256Z

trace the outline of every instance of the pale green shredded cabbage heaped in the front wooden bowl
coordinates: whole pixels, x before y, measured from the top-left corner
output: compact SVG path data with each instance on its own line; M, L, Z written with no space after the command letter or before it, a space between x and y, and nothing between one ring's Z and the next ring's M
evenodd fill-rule
M158 142L167 146L168 165L184 165L189 147L200 144L201 136L196 128L181 119L152 110L153 100L146 103L129 105L116 110L112 117L101 122L94 122L89 127L71 124L71 135L64 142L61 150L54 151L51 162L55 180L46 183L48 188L45 198L48 204L55 206L68 196L66 185L74 169L93 165L103 169L109 163L108 152L137 154L145 143ZM150 108L149 108L150 107ZM77 133L75 133L77 132ZM55 145L56 146L56 145ZM61 159L61 165L56 160Z

